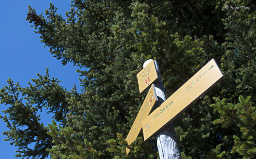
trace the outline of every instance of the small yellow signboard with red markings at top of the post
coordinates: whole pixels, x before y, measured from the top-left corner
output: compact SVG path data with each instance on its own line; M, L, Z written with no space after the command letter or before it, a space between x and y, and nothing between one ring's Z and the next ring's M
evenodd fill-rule
M152 60L145 68L137 74L139 83L139 90L142 93L146 88L150 86L157 79L156 66L154 60Z

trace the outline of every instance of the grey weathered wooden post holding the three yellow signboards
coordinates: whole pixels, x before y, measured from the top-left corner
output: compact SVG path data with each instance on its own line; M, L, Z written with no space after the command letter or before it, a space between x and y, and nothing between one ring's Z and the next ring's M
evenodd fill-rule
M143 68L147 66L147 64L150 61L152 60L145 61L143 64ZM156 87L156 95L158 98L157 106L160 106L166 100L166 94L165 94L165 89L164 89L160 69L156 60L154 60L154 63L156 66L157 76L159 77L155 82L155 87ZM157 135L157 148L158 148L160 159L182 159L172 122L168 124L160 132L158 132L156 135Z

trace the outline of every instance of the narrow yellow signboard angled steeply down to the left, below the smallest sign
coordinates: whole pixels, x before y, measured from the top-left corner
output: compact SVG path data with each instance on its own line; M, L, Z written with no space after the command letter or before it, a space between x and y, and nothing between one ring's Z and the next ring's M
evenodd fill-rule
M132 124L130 132L126 138L128 144L130 145L139 135L142 130L142 120L145 119L150 113L151 109L156 106L157 103L156 89L155 84L152 84L150 87L147 96L142 104L142 107ZM127 153L129 153L130 149L126 148Z

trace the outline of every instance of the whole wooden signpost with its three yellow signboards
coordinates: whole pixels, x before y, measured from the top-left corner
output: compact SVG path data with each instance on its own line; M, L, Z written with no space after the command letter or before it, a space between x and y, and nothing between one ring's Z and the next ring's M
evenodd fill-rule
M131 144L141 132L141 128L145 141L157 133L157 147L160 159L181 159L174 126L171 121L203 93L213 87L217 81L221 80L223 75L214 59L212 59L166 100L157 62L148 60L144 65L144 68L137 75L140 93L153 82L156 84L156 89L155 85L152 84L126 140L128 144ZM152 90L154 90L154 95L151 93L153 92ZM160 106L151 113L152 107L156 105L157 96L159 97L157 105ZM154 97L156 98L155 100ZM150 105L151 102L152 106ZM151 114L149 115L149 113ZM129 149L127 148L126 150L128 153Z

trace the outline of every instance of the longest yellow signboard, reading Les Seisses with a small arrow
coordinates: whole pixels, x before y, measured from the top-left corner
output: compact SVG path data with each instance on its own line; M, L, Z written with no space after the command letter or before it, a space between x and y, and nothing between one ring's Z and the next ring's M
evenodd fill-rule
M144 140L148 140L222 78L219 67L212 59L142 121Z

